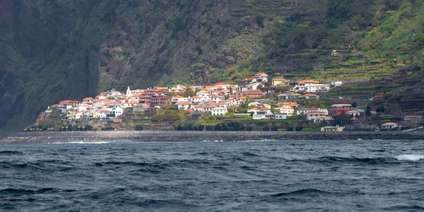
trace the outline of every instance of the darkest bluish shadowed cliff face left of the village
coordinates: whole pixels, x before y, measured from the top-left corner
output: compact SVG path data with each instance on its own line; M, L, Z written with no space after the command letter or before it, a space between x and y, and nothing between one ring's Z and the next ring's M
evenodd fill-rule
M42 1L0 1L2 134L30 124L61 98L95 93L99 54L84 46L69 51L75 22L53 8Z

